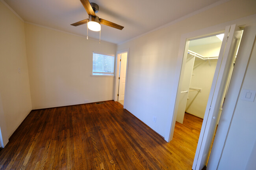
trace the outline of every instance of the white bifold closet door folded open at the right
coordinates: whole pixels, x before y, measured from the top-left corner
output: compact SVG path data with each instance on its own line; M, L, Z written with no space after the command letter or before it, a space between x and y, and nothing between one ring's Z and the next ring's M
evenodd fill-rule
M204 120L200 136L198 139L197 150L193 162L193 170L201 170L207 163L211 143L213 140L216 121L221 107L221 98L231 66L237 40L241 38L241 30L236 25L226 26L221 50L215 69L210 95L204 114ZM222 148L221 148L222 149Z

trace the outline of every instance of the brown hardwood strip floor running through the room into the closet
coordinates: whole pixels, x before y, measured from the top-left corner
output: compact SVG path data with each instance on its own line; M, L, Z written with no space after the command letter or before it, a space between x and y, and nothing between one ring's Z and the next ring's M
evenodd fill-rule
M115 101L32 110L0 169L189 169L202 119L185 114L167 143Z

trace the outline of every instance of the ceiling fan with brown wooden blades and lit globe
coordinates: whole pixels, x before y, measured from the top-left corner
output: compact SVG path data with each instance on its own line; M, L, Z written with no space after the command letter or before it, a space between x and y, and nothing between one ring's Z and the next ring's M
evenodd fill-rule
M90 3L89 0L80 0L80 1L83 4L83 7L85 8L85 10L87 11L89 18L79 21L79 22L76 22L74 24L70 24L70 25L78 26L78 25L87 23L87 27L92 31L100 31L100 29L101 29L100 24L107 25L109 27L113 27L113 28L120 29L120 30L122 30L124 28L121 25L115 24L113 22L104 20L104 19L96 16L95 13L97 13L98 9L99 9L97 4Z

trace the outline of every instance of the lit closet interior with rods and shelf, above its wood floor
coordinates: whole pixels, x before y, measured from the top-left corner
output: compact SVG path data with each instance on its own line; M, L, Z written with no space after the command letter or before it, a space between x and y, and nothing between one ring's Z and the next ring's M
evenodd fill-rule
M219 38L218 38L219 37ZM223 34L189 41L176 121L185 112L204 118Z

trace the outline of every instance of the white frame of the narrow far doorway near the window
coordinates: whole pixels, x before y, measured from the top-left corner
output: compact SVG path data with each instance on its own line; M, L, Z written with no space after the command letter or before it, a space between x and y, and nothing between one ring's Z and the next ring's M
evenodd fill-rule
M126 85L127 85L127 79L128 79L128 63L129 63L129 49L123 49L119 50L116 53L116 61L115 61L115 90L114 90L114 101L117 101L118 97L118 89L119 89L119 81L118 81L118 75L120 72L120 54L127 52L127 62L126 62L126 79L125 79L125 89L124 89L124 109L125 109L125 101L126 101Z

